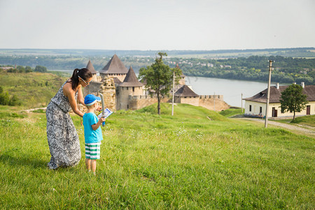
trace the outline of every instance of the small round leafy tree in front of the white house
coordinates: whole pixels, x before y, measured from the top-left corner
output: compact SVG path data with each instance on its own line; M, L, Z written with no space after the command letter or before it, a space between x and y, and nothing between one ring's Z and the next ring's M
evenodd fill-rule
M295 112L300 112L305 109L307 102L307 95L303 94L303 87L300 85L292 84L281 92L281 112L293 112L293 120Z

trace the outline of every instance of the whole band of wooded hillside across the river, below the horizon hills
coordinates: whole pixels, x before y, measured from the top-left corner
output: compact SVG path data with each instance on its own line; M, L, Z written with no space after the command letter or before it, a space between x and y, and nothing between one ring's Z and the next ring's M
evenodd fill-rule
M87 66L89 59L94 69L101 71L112 56L70 56L70 55L10 55L0 56L0 65L45 66L48 70L72 70ZM132 66L136 73L141 67L151 65L155 57L119 56L127 69ZM171 67L179 64L186 76L202 76L211 78L229 78L236 80L266 81L268 79L269 59L272 64L272 82L300 83L315 85L315 58L293 58L283 56L231 57L231 58L198 58L175 57L163 58Z

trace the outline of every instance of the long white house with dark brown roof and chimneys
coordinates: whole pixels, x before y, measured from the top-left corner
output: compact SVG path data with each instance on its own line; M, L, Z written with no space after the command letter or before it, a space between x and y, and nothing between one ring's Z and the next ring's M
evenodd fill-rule
M315 85L304 85L301 83L303 87L303 94L307 95L307 101L309 102L306 106L306 109L299 113L295 113L295 116L306 116L306 115L314 115L315 114ZM270 96L269 96L269 109L268 116L273 118L279 117L288 117L292 116L293 113L286 112L281 113L281 92L286 90L288 85L281 85L279 83L276 86L270 87ZM267 89L262 90L258 94L255 94L253 97L249 97L245 100L245 114L252 116L266 116L266 104L267 104Z

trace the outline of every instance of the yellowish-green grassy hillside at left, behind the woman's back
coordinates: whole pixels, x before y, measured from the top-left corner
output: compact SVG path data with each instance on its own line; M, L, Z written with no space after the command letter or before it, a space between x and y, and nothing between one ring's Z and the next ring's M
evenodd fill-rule
M52 73L0 73L4 92L18 97L25 108L47 106L65 80Z

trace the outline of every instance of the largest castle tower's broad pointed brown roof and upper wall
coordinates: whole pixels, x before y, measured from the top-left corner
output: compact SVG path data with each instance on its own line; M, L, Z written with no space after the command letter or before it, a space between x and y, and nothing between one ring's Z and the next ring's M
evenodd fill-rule
M123 81L128 73L128 69L115 54L111 57L111 60L104 66L102 71L99 71L99 74L102 78L118 78L120 81Z

